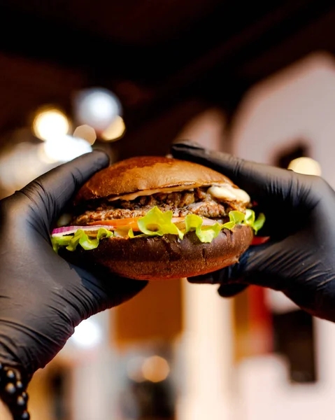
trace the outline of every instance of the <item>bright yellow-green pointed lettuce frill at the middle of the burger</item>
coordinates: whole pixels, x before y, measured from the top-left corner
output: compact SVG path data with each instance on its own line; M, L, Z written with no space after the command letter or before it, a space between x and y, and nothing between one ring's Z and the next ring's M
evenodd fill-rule
M149 210L145 216L138 219L139 230L149 236L178 235L183 239L184 234L172 223L172 211L160 211L157 206Z

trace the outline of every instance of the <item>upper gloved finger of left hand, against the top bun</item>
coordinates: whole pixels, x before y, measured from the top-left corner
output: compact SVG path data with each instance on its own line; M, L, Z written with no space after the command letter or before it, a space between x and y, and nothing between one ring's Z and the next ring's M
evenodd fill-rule
M76 191L108 163L108 155L103 151L86 153L39 176L20 193L27 195L37 209L45 210L46 223L51 225Z

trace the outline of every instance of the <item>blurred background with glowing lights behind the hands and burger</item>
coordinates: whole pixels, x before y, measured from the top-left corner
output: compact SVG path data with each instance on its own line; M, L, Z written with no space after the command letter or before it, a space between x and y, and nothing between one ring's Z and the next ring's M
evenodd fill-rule
M0 197L78 155L177 139L335 188L330 1L1 0ZM185 279L81 323L34 420L334 419L335 326L283 295Z

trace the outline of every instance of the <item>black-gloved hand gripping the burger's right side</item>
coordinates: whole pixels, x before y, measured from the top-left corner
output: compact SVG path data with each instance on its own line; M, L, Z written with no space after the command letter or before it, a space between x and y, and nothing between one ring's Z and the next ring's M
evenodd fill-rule
M247 191L266 216L258 235L270 237L250 246L236 265L190 281L219 283L224 297L248 284L281 290L301 309L335 321L335 193L329 184L188 142L174 144L171 153L222 172Z

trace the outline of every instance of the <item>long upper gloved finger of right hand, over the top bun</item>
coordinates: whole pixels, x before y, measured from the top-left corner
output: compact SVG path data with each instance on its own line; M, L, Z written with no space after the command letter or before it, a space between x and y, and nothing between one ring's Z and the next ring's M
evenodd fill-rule
M298 174L293 176L286 169L249 162L228 153L209 151L187 141L173 144L171 153L174 158L190 160L222 172L254 197L286 196L287 187L294 184L294 179L298 179Z

